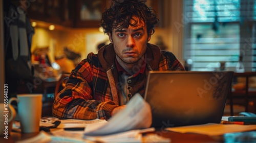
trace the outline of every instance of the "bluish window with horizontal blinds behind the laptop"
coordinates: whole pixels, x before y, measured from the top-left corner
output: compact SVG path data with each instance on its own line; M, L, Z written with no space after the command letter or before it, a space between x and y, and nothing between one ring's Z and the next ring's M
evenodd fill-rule
M191 70L256 71L256 0L184 0L184 59ZM190 60L190 61L191 61Z

